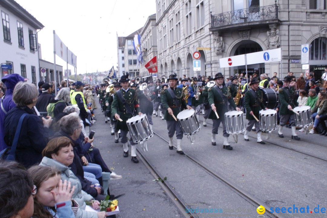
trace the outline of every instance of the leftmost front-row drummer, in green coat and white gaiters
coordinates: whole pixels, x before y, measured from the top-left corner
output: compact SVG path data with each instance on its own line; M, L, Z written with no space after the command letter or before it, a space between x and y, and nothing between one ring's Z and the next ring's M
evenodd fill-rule
M117 121L116 131L120 129L121 133L121 143L123 143L124 148L124 158L128 157L128 139L127 133L129 131L126 121L139 114L141 115L139 100L136 94L136 91L133 89L129 89L129 78L128 73L126 75L122 75L120 78L120 85L122 88L116 92L113 97L113 102L111 104L111 112L114 115L114 118ZM122 121L119 121L119 120ZM136 158L136 144L133 142L132 138L130 138L131 145L131 160L134 163L138 163L139 160Z

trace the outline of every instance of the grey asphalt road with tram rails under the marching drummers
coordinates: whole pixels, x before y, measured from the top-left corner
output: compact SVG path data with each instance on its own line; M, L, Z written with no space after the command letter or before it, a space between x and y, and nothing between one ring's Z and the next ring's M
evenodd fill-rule
M114 143L110 124L105 124L101 109L97 109L96 118L97 122L92 126L96 131L95 145L108 166L123 176L110 181L111 193L123 194L118 198L121 212L117 217L184 217L185 213L176 208L174 199L164 193L158 181L152 181L154 177L144 163L135 164L130 157L123 157L122 144ZM167 140L166 122L159 116L152 118L154 132ZM284 128L284 139L273 132L266 140L266 134L263 134L262 138L267 143L262 145L256 143L256 134L251 132L249 142L239 135L238 143L235 143L230 136L233 150L228 151L222 148L221 128L216 137L217 145L211 145L211 124L208 120L207 127L203 127L201 122L196 141L192 144L184 137L182 149L227 183L210 175L185 155L177 154L176 149L169 150L168 143L157 135L147 141L148 152L137 145L139 152L161 175L167 176L166 182L188 204L185 210L222 210L218 213L197 212L198 217L255 217L258 215L256 208L262 204L266 205L266 217L272 217L270 210L283 207L286 212L274 214L278 217L325 215L322 208L327 207L327 137L297 132L302 140L295 141L290 139L291 130ZM176 137L174 143L176 145ZM249 193L259 205L235 192L228 183ZM319 213L315 213L318 205ZM287 212L290 207L291 213ZM293 207L298 208L298 213L295 209L293 211ZM300 212L301 208L305 208L305 213Z

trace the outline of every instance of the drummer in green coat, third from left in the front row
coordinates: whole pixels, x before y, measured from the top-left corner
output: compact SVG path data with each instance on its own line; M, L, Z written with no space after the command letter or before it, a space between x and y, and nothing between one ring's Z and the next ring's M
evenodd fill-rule
M228 143L229 134L226 132L226 124L225 124L225 113L228 112L227 101L232 105L232 107L238 111L238 107L236 107L233 98L226 86L223 86L224 76L221 73L217 73L214 78L215 86L209 90L209 104L211 105L211 110L209 113L209 119L212 119L212 138L211 144L216 145L216 135L218 134L218 127L220 126L220 122L223 124L223 137L224 143L223 148L227 150L233 150L233 147ZM219 119L217 118L215 111L217 111Z

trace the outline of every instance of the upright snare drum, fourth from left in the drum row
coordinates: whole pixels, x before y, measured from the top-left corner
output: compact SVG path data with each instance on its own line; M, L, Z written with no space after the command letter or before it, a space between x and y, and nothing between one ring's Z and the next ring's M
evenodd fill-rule
M277 111L273 109L260 110L260 130L274 131L277 129Z

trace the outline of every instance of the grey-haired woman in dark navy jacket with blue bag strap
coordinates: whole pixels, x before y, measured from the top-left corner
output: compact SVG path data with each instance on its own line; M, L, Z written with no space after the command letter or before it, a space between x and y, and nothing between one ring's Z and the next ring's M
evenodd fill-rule
M4 121L4 140L11 147L19 119L23 114L26 114L22 122L15 153L16 161L26 168L41 162L42 150L49 137L51 117L47 116L41 119L34 109L38 95L38 89L34 84L17 83L12 94L12 100L16 107L9 110Z

